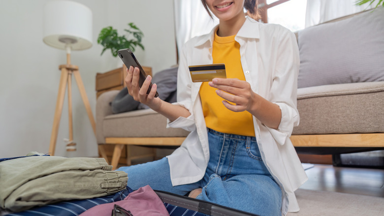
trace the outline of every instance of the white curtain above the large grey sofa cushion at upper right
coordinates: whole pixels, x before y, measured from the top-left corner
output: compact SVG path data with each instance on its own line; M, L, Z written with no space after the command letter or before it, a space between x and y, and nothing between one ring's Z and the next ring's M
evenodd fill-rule
M375 3L356 6L356 0L307 0L305 28L375 7Z

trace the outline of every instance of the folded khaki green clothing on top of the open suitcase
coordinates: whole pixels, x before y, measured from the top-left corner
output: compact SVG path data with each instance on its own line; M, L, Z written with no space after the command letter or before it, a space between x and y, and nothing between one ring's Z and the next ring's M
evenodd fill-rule
M128 176L104 158L30 156L0 162L0 207L13 212L123 190Z

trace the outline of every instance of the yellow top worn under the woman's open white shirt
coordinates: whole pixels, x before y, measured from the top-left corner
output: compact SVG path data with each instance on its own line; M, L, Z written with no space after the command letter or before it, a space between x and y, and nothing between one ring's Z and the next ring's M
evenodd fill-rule
M214 64L225 64L227 78L245 80L240 62L240 44L235 41L235 36L220 37L215 34L212 57ZM208 82L203 82L199 91L207 127L222 133L255 136L252 114L225 108L224 99L215 91L216 88L209 86Z

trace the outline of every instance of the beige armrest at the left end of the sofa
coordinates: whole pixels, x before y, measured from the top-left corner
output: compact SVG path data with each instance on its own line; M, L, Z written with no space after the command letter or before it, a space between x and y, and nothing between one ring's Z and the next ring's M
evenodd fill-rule
M104 144L103 121L105 116L111 115L112 108L110 103L119 94L119 90L112 90L102 93L96 101L96 140L97 144Z

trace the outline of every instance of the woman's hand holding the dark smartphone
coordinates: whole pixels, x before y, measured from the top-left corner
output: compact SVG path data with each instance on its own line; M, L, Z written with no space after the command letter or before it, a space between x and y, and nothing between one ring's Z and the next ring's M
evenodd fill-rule
M138 101L142 104L147 105L148 107L158 110L161 106L161 99L159 97L155 98L157 85L156 83L152 84L151 91L147 95L147 91L149 85L151 84L152 77L150 75L147 76L143 85L139 86L139 68L133 68L132 66L127 68L127 76L125 78L125 82L127 84L128 93L133 97L135 101Z

